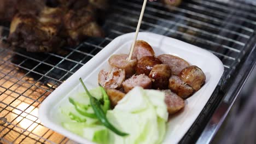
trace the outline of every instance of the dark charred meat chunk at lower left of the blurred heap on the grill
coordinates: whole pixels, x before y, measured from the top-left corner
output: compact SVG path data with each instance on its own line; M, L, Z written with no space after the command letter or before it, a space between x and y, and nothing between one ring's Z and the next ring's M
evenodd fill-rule
M64 43L57 35L59 30L54 23L40 23L33 15L17 14L11 22L8 41L29 52L58 51Z

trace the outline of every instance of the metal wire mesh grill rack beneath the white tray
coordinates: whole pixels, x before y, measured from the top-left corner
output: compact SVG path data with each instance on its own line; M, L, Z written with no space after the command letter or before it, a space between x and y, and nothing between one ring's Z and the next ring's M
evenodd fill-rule
M141 4L139 0L112 2L103 23L106 37L88 38L77 47L65 47L61 53L28 53L19 47L15 50L0 47L0 142L73 143L40 123L38 107L110 41L134 32ZM191 0L179 7L154 2L148 3L141 31L167 35L214 53L225 66L219 84L222 87L252 49L246 45L254 35L255 12L254 5L235 1ZM1 39L6 38L8 23L1 23L1 31ZM216 89L215 93L219 91L222 89ZM181 142L200 133L195 127L207 119L203 115L212 112L220 99L212 95Z

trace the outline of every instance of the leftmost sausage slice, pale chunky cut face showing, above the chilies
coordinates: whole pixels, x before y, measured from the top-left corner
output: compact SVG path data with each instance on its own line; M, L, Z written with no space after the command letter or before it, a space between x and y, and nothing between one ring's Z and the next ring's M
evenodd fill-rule
M98 73L98 83L104 88L121 88L125 80L125 71L118 68L111 68L109 71L101 70Z

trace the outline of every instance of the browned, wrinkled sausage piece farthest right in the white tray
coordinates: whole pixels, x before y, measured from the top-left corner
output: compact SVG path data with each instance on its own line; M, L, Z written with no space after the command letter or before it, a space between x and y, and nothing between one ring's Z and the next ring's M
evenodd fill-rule
M179 77L182 81L193 87L195 91L199 91L202 85L205 84L206 79L203 71L195 65L183 69L181 73L179 73Z

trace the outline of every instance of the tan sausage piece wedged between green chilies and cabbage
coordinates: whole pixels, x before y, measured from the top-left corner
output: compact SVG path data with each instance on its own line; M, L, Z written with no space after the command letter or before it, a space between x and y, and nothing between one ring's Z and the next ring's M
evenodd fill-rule
M117 89L107 89L108 98L112 107L115 107L118 104L118 101L124 98L125 93Z

